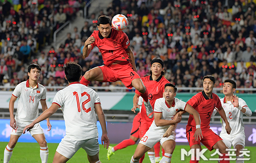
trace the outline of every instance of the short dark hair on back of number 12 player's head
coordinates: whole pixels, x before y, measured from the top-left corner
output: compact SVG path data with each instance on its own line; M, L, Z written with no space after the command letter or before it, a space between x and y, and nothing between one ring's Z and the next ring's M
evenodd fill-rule
M76 62L68 62L63 67L68 82L79 82L82 75L82 67Z

